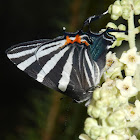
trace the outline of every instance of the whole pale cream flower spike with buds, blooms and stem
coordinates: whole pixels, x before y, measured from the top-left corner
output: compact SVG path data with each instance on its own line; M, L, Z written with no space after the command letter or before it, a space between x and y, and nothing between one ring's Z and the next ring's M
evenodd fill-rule
M88 106L89 117L85 120L81 140L138 140L140 139L140 52L137 52L135 35L140 26L134 26L134 15L140 14L140 0L116 0L109 7L111 18L120 16L128 20L128 35L111 33L116 37L112 45L120 46L128 41L130 49L120 58L116 53L108 52L103 74L103 83L93 92ZM140 23L140 20L138 20ZM109 22L107 27L126 30Z

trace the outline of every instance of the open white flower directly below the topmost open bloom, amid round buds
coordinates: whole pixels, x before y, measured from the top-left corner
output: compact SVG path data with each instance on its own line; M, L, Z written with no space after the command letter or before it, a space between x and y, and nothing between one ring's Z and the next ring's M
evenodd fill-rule
M127 76L124 80L116 80L116 87L124 97L133 97L137 94L137 88L132 85L132 77Z

